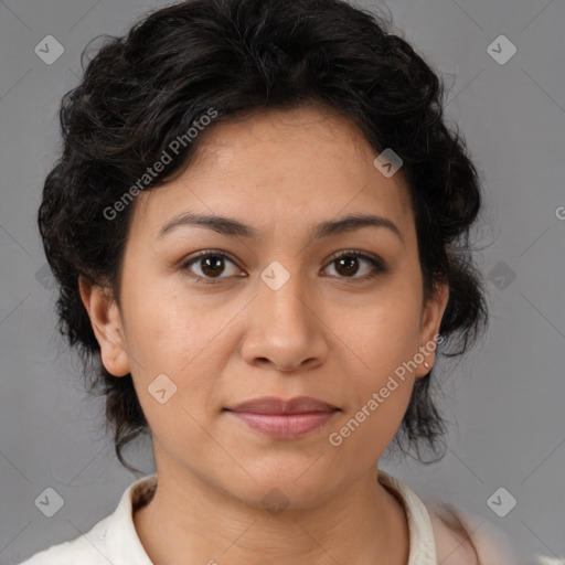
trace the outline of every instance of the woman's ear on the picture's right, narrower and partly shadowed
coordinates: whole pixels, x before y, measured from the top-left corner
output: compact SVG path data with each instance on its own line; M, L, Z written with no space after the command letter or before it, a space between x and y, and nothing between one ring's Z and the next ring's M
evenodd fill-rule
M416 379L426 376L434 366L436 358L435 351L437 349L436 335L439 334L439 327L441 324L441 319L447 308L448 300L449 285L437 284L435 287L434 296L431 296L424 306L424 311L422 312L419 332L420 343L418 350L418 353L420 353L424 359L422 363L418 363L418 367L414 374ZM424 363L427 363L429 366L426 367Z

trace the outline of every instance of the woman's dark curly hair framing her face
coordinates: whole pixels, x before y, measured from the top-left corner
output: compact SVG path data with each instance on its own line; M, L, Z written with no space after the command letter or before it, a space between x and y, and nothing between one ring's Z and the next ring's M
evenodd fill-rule
M83 60L82 83L61 104L64 147L45 180L39 227L58 282L60 332L93 377L89 393L106 397L106 429L129 470L121 450L148 423L131 375L117 379L100 362L78 277L111 288L119 306L134 205L113 221L105 210L210 108L216 125L267 108L331 107L377 152L393 148L404 161L425 298L438 282L450 289L438 355L461 355L486 328L469 243L479 175L458 128L446 127L443 81L388 23L341 0L189 0L150 13ZM145 190L180 174L198 146L198 137L182 145ZM435 371L416 381L395 443L418 449L424 441L443 457Z

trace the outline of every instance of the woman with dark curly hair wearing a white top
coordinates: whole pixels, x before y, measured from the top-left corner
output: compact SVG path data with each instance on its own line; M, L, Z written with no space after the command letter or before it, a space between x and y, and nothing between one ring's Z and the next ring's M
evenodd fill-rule
M26 564L515 563L379 469L441 455L436 360L488 318L441 102L338 0L192 0L98 52L39 224L117 456L147 431L157 473Z

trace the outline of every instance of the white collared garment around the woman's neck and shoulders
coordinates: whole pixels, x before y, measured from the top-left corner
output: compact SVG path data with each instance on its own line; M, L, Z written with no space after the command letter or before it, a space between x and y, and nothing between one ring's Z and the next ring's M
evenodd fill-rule
M406 511L408 565L437 565L431 520L422 500L406 483L382 470L379 482L397 494ZM132 510L140 499L150 499L156 483L157 475L131 483L113 514L79 537L39 552L20 565L153 565L137 535Z

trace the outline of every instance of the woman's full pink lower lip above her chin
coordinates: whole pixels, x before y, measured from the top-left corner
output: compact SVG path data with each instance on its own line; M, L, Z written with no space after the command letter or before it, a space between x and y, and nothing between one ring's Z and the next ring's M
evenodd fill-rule
M277 439L291 439L322 427L337 412L310 412L305 414L230 412L230 414L267 436Z

